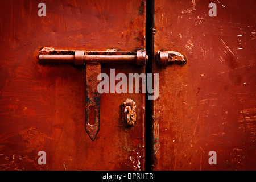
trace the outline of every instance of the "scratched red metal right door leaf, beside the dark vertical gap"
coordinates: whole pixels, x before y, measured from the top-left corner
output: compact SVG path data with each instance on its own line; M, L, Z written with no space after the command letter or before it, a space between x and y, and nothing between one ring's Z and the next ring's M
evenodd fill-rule
M210 2L155 0L155 53L180 52L187 64L154 62L154 170L256 169L256 4L212 1L210 17Z

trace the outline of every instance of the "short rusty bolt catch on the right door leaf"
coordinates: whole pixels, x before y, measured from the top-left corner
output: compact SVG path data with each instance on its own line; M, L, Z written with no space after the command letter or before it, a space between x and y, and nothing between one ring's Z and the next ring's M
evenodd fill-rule
M159 65L167 66L168 63L185 63L187 59L179 52L158 51L156 53L156 61L158 61Z

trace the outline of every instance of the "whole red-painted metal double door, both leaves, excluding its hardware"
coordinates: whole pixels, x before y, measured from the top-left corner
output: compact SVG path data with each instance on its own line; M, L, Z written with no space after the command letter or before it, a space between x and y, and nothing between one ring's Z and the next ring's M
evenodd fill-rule
M39 51L145 49L146 2L47 0L39 16L41 1L1 1L0 170L144 170L145 146L155 171L255 169L255 2L213 1L217 13L211 2L147 1L149 67L105 63L101 72L158 73L159 97L102 93L92 141L85 66L39 64ZM158 51L187 62L160 66ZM136 102L134 127L122 121L127 98Z

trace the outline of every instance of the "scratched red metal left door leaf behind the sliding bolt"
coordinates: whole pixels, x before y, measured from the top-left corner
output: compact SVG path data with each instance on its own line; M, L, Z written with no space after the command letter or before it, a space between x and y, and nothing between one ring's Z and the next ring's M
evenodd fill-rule
M145 47L144 1L0 2L0 169L144 169L144 94L101 94L100 131L85 125L85 67L39 64L44 46L65 50ZM144 67L102 64L101 72L143 73ZM134 127L122 123L126 98L137 105ZM46 165L38 152L46 152Z

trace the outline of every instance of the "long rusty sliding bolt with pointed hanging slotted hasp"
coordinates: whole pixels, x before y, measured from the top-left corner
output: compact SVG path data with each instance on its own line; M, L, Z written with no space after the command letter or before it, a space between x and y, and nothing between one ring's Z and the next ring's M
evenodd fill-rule
M107 51L68 51L44 47L39 51L38 59L40 63L86 65L85 130L90 139L94 141L100 130L100 93L97 90L100 80L97 80L97 77L101 73L101 63L146 65L148 56L144 50L137 52L122 52L113 49ZM129 117L129 119L131 118ZM130 123L133 124L133 122Z

